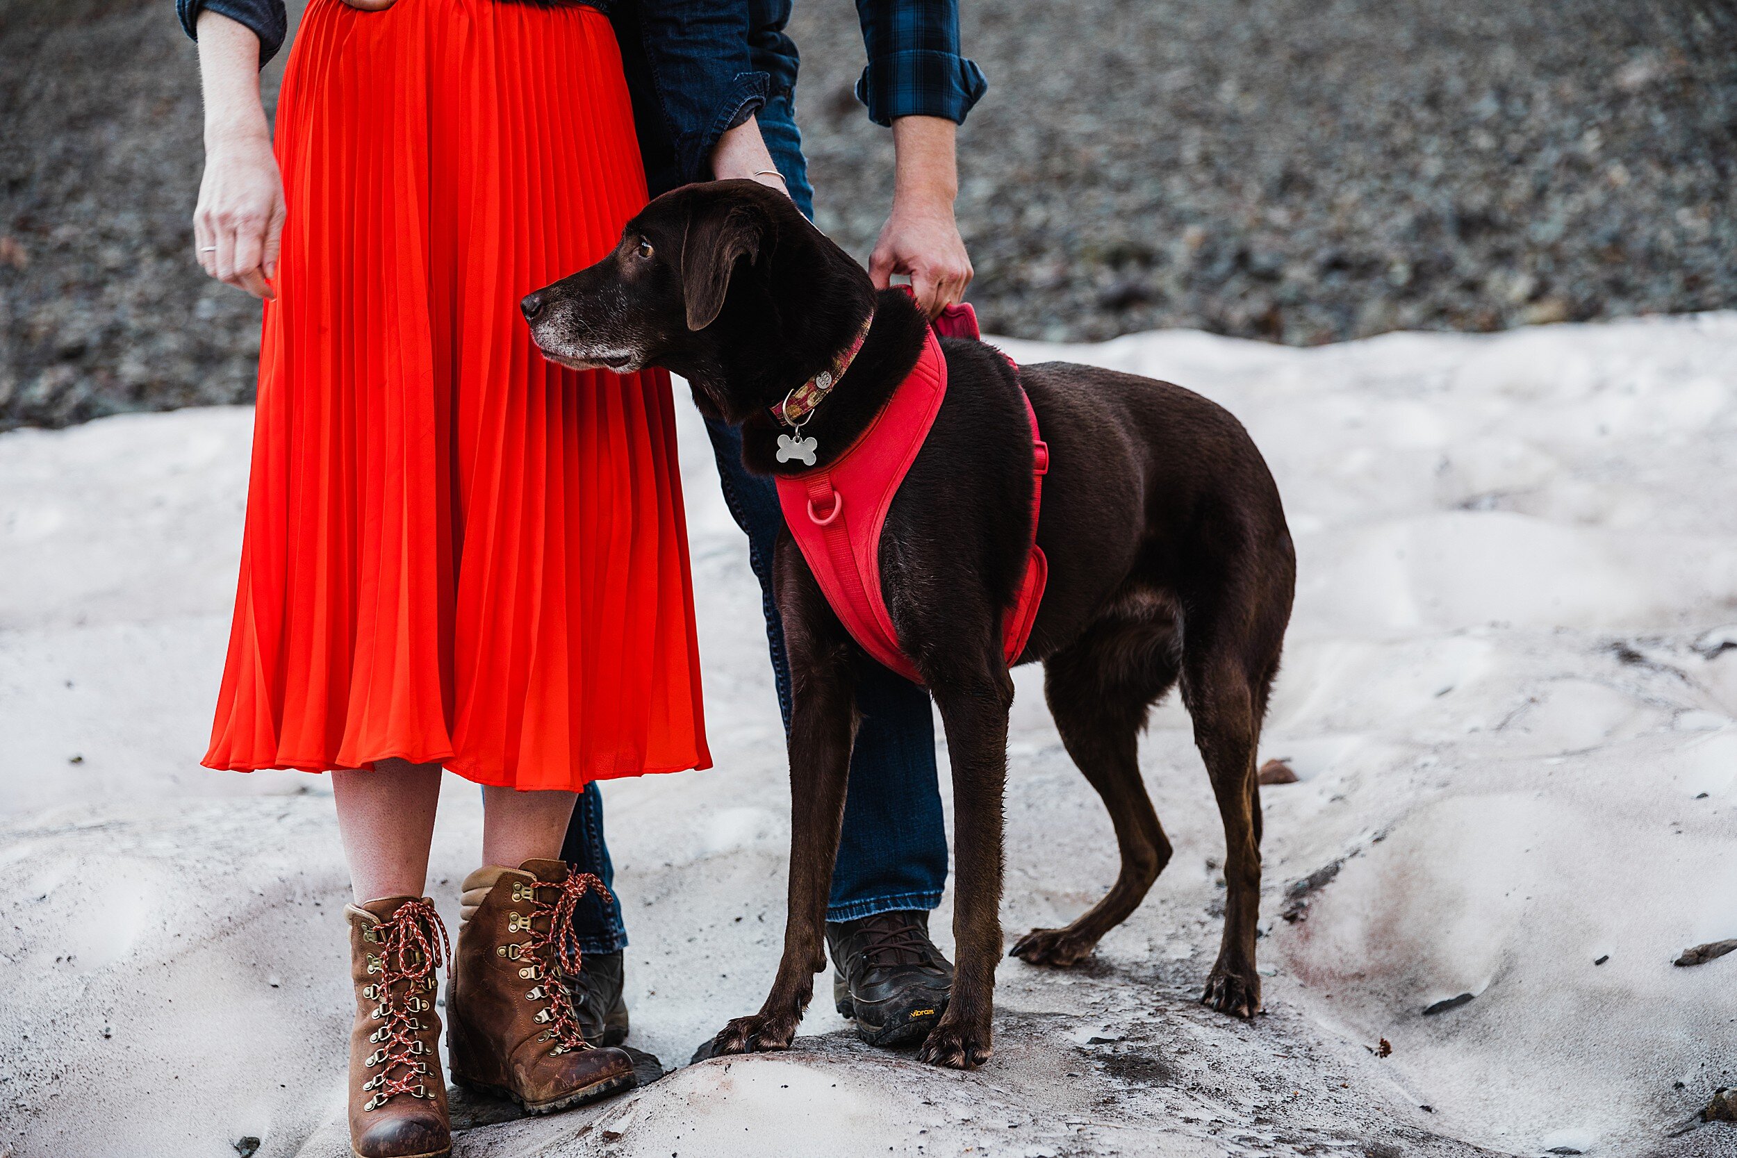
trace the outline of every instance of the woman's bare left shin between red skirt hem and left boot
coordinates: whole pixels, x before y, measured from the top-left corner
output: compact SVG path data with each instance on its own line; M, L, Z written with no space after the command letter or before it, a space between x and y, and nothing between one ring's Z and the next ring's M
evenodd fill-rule
M377 760L373 771L332 773L356 903L422 896L439 800L439 764Z

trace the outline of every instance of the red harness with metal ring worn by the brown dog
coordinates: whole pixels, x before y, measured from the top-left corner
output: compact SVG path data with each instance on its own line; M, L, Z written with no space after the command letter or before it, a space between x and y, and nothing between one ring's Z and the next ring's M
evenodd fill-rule
M796 545L808 559L809 571L825 592L832 611L863 651L917 684L922 675L898 646L893 616L881 594L881 531L893 495L915 462L922 441L935 425L935 415L947 398L947 359L936 333L976 339L976 311L952 306L941 311L929 330L915 368L893 398L875 415L862 438L827 467L794 476L778 476L778 502ZM1042 509L1044 472L1049 448L1037 429L1032 399L1020 391L1027 418L1032 422L1032 550L1020 582L1018 599L1001 623L1002 653L1011 667L1037 622L1049 564L1037 547L1037 514Z

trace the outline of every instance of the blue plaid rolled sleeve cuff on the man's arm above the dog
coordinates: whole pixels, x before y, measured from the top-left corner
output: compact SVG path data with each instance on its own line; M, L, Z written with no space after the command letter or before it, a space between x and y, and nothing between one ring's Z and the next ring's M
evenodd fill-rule
M868 118L945 116L962 123L988 90L976 61L959 56L957 0L856 0L868 68L856 99Z

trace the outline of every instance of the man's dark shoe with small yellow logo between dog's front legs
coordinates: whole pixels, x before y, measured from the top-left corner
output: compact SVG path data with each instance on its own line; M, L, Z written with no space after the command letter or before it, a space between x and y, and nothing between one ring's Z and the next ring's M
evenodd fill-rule
M929 915L895 910L827 922L832 1000L870 1045L915 1045L947 1012L954 965L929 941Z

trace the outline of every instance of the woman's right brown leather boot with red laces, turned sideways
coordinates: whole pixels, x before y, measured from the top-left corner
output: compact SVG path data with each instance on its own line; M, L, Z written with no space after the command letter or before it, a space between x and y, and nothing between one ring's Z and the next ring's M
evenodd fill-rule
M490 865L466 877L446 988L453 1082L511 1097L533 1115L637 1083L632 1057L585 1040L563 984L582 967L573 905L592 889L604 892L601 880L570 873L561 861Z

